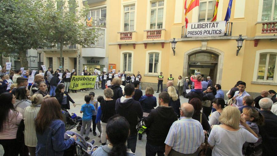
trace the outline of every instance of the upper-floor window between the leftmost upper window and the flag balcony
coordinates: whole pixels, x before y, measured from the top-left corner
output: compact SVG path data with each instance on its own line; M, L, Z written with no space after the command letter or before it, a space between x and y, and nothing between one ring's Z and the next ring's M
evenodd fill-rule
M163 28L164 1L151 2L150 29Z

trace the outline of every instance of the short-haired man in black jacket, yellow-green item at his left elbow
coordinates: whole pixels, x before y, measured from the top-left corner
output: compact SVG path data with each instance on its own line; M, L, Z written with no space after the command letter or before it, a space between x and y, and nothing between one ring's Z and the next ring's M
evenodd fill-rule
M159 106L152 109L143 122L147 127L146 156L163 155L167 133L178 117L172 107L168 106L170 96L167 92L159 94Z

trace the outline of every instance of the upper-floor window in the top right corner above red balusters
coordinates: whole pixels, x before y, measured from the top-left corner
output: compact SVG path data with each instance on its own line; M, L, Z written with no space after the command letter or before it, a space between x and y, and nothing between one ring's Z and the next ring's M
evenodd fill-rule
M262 21L277 20L277 0L262 0Z

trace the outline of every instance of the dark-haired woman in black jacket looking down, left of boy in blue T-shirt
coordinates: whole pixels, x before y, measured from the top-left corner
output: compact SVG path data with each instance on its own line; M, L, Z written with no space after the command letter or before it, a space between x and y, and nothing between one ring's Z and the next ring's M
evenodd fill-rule
M75 102L72 100L72 98L70 98L70 96L66 92L65 86L63 83L58 84L55 90L55 93L56 93L55 96L63 109L70 110L69 101L73 103L74 107L76 106Z

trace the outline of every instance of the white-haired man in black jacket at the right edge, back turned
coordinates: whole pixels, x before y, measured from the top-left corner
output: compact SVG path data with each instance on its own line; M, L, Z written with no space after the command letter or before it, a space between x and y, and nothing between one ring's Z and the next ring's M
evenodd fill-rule
M264 125L259 126L259 134L263 139L263 155L275 155L277 153L277 115L270 111L272 104L270 98L262 98L259 101L260 113L264 117Z

